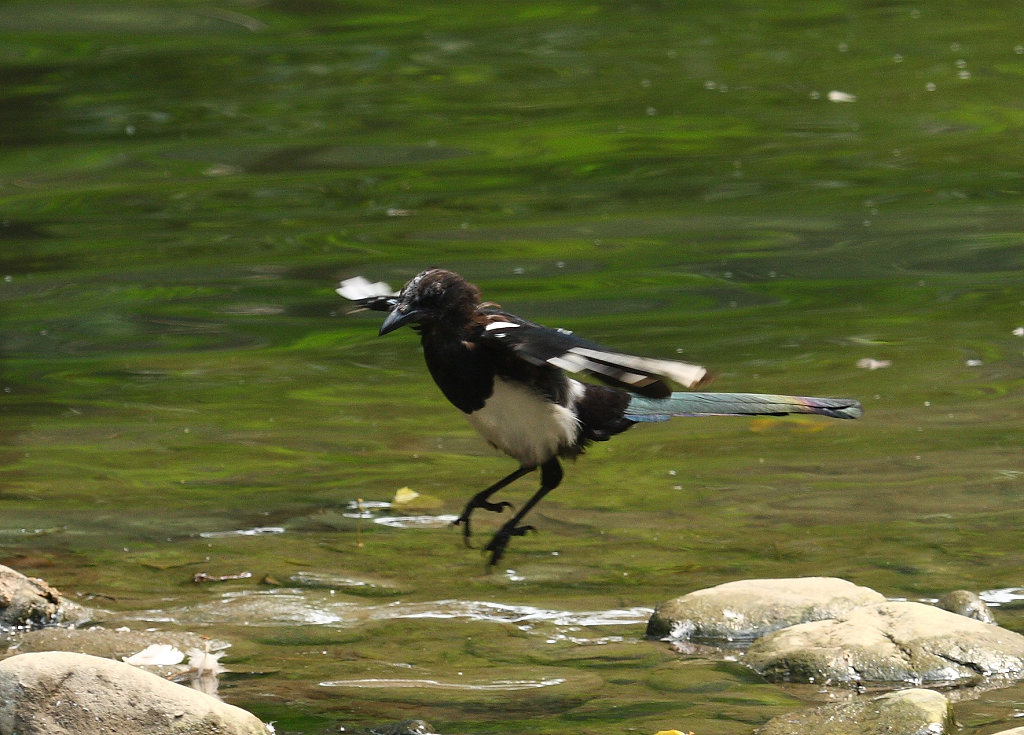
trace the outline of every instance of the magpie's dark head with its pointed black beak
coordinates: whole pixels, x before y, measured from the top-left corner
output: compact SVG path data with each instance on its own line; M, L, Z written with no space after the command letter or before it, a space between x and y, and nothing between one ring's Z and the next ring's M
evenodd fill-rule
M430 268L406 284L394 308L381 325L380 334L386 335L406 325L431 325L442 320L462 326L479 303L479 290L461 275Z

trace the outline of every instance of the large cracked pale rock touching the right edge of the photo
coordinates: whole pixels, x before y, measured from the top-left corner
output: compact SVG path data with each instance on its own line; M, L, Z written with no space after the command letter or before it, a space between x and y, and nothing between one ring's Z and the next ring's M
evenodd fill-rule
M773 681L977 684L1024 675L1024 636L916 602L771 633L745 662Z

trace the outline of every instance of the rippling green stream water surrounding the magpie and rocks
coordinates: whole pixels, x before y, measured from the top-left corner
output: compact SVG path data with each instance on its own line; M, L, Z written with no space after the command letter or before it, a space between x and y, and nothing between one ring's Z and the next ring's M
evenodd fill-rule
M230 641L222 695L279 733L749 733L821 699L643 640L646 611L753 576L1024 585L1022 20L4 3L0 563L112 626ZM716 389L865 416L638 427L487 574L443 524L353 517L402 486L457 513L513 468L412 333L333 293L426 265ZM253 528L276 530L222 533ZM1022 701L956 711L981 735Z

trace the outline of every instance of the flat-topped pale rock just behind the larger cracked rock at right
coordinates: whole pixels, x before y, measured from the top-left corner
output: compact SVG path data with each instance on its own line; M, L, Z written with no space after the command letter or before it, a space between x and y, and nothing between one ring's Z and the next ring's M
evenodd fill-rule
M693 640L750 640L788 625L838 617L885 601L866 587L836 577L742 579L662 603L647 635Z

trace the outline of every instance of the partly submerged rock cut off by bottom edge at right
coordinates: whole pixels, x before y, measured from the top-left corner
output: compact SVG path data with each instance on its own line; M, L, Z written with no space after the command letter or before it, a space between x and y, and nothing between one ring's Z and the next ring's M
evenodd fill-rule
M825 704L780 715L758 735L943 735L955 731L949 701L930 689Z

